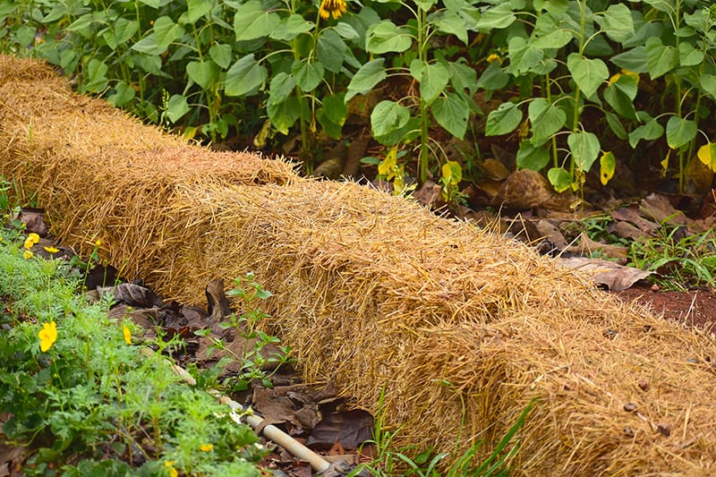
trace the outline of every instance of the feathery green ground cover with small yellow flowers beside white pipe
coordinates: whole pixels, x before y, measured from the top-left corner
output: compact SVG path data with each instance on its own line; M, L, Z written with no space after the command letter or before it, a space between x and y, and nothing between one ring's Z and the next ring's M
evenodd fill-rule
M4 439L30 448L25 474L260 475L251 428L163 356L178 339L142 354L141 330L107 319L110 298L88 303L79 273L32 255L34 234L0 236L0 410Z

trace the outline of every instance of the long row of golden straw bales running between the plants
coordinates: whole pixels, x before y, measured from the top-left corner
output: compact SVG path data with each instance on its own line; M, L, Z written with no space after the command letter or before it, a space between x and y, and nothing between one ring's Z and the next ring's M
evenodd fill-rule
M124 277L200 304L212 278L256 272L305 378L403 426L396 444L483 439L485 456L536 398L517 474L716 473L712 337L522 244L189 145L8 56L0 147L0 172L37 192L55 234L84 253L101 240Z

